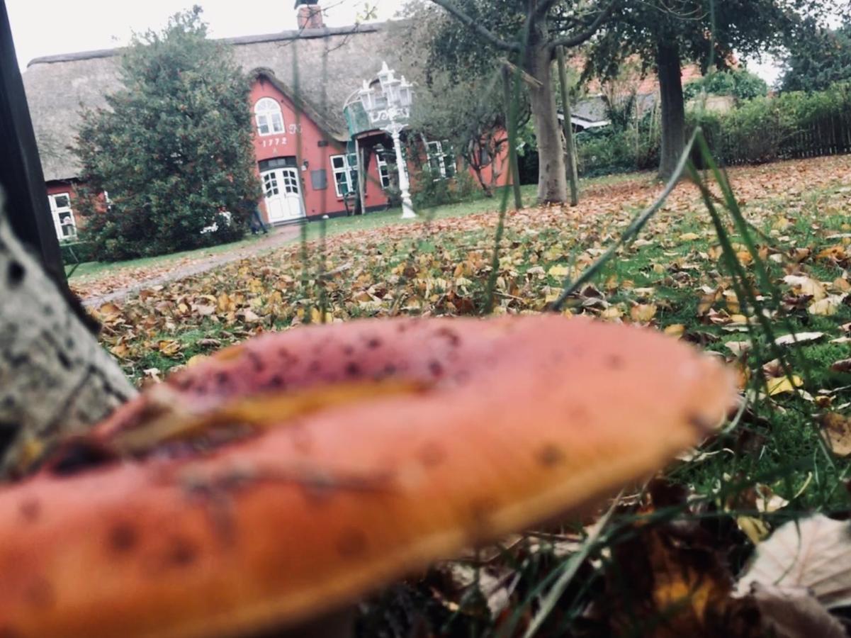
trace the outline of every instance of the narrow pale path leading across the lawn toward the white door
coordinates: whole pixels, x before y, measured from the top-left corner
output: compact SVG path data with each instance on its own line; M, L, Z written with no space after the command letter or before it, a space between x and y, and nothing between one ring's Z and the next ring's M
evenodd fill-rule
M235 250L222 252L216 255L198 257L197 259L188 260L186 262L153 267L151 268L153 273L151 273L150 277L145 276L145 268L138 268L129 269L129 272L126 273L124 278L122 278L120 270L117 273L109 273L109 271L106 271L106 273L104 273L104 277L98 277L95 275L92 279L84 280L79 283L75 282L74 279L71 279L70 283L71 287L75 290L75 292L77 292L77 296L80 297L84 306L96 308L106 302L120 302L128 296L154 285L168 284L169 282L177 281L178 279L184 279L199 273L206 273L208 270L212 270L213 268L219 267L223 264L236 262L239 259L245 259L246 257L256 255L265 250L277 248L278 246L286 244L297 238L299 236L299 232L300 230L298 226L273 228L268 237L259 239L254 242L254 244L241 246ZM133 279L133 283L128 285L117 285L109 292L98 294L99 291L104 288L103 280L111 278L113 274L117 276L118 279ZM106 287L109 288L111 286L107 284ZM87 288L94 290L91 290L90 294L87 294Z

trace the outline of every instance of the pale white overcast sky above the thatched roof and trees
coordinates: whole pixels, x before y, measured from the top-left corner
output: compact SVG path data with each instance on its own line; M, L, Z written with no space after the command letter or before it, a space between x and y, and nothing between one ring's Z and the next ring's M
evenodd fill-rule
M42 55L111 49L134 31L159 30L168 16L193 0L6 0L21 71ZM212 37L233 37L295 29L294 0L197 0ZM328 26L351 25L374 6L378 20L389 20L403 0L323 0ZM772 60L751 61L751 71L774 83Z

